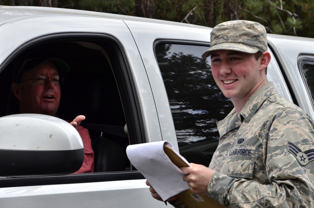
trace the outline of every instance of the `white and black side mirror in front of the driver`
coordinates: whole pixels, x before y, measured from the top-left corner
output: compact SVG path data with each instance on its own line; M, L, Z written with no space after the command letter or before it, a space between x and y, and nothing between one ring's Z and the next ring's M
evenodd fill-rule
M0 176L64 175L83 164L84 146L68 122L41 114L0 118Z

